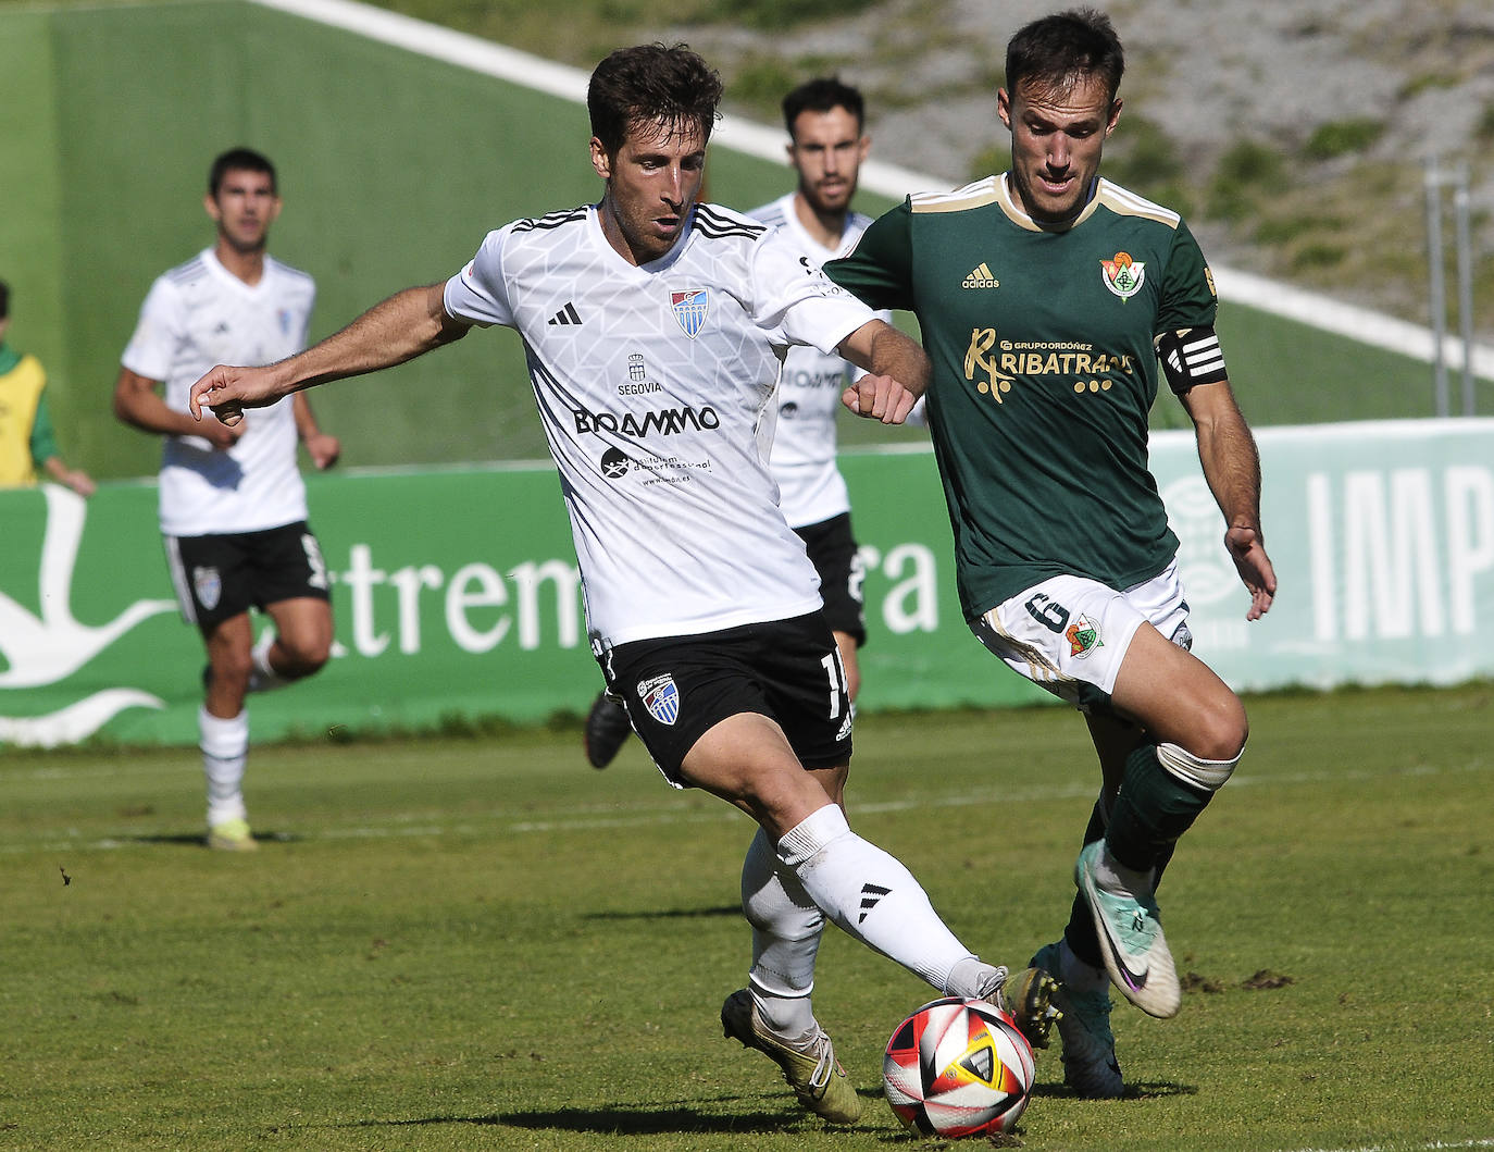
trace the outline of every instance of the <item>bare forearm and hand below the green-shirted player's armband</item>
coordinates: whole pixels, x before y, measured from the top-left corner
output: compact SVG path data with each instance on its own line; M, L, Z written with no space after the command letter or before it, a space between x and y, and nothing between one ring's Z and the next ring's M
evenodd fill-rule
M1261 536L1261 457L1255 436L1236 403L1230 381L1195 384L1182 399L1198 436L1204 480L1228 524L1225 547L1250 593L1245 619L1259 620L1276 596L1276 569Z

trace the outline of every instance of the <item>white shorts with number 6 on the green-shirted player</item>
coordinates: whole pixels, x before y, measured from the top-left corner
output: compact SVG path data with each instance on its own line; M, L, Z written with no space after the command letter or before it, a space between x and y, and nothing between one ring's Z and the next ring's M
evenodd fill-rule
M1082 711L1110 704L1120 662L1143 625L1192 647L1177 557L1125 592L1098 580L1053 577L998 604L970 629L992 654Z

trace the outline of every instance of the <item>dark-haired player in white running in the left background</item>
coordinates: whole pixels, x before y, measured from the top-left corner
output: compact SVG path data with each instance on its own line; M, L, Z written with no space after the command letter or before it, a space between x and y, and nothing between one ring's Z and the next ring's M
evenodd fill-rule
M332 648L327 572L306 526L296 441L317 468L341 451L305 396L235 427L193 420L191 383L220 360L269 363L306 347L317 288L266 253L279 215L275 167L235 148L208 173L217 242L161 275L140 308L114 390L120 420L164 436L160 521L182 616L208 648L199 713L208 844L255 847L244 805L245 693L311 675ZM158 391L164 385L164 394ZM275 622L254 642L249 608Z

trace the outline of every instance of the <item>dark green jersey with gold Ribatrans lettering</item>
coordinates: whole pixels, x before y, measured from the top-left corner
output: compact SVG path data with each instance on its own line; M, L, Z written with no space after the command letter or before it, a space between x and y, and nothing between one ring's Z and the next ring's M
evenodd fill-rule
M1146 448L1152 341L1218 311L1176 212L1101 179L1073 227L1043 232L988 176L910 196L825 270L923 329L967 617L1053 575L1126 589L1167 566L1177 538Z

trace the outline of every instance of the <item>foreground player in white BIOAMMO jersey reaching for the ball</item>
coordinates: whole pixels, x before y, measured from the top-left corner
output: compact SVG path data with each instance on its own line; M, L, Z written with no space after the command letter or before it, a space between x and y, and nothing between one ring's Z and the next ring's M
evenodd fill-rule
M587 94L599 203L489 233L444 284L406 288L290 360L215 368L191 405L235 421L474 324L520 332L608 687L671 783L759 825L743 867L750 986L722 1024L805 1107L849 1122L861 1100L810 1006L826 917L943 994L1010 995L1038 1041L1052 980L1008 982L980 961L907 868L847 825L850 701L814 568L777 508L768 405L789 344L875 372L858 411L886 423L913 405L899 380L928 362L774 233L696 202L720 93L684 45L613 52Z

